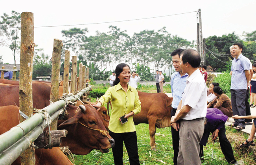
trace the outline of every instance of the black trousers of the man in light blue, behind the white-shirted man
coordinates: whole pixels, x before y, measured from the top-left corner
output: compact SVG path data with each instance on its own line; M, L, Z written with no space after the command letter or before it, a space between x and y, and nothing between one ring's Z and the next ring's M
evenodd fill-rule
M176 110L177 109L175 108L171 110L171 117L175 116ZM176 131L173 127L171 127L171 137L173 139L173 150L174 150L173 164L177 165L177 158L179 154L179 141L180 141L179 130Z

